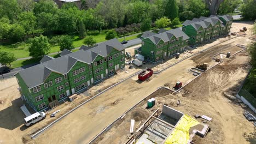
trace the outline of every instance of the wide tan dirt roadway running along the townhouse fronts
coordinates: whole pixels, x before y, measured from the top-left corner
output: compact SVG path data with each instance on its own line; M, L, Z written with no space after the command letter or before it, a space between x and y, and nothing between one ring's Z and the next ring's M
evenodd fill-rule
M232 29L240 29L242 26L247 26L249 29L252 23L233 23ZM238 28L233 28L238 27ZM248 44L250 41L249 30L246 32L246 37L239 37L223 43L222 45L229 44L235 45ZM232 36L231 36L232 38ZM198 47L197 49L191 50L192 52L198 52L206 47L219 43L227 38L217 39L216 41ZM239 41L240 40L240 41ZM131 48L130 50L132 50ZM133 50L132 50L133 51ZM184 55L183 55L184 54ZM186 57L191 53L185 52L181 55ZM231 53L232 54L232 53ZM245 57L247 57L245 55ZM170 83L174 85L177 80L187 82L194 78L193 75L188 71L191 65L196 65L199 62L193 60L185 60L184 62L162 72L159 75L154 75L151 81L139 82L137 77L132 77L119 86L110 89L108 92L100 95L96 99L90 101L88 104L80 107L78 110L72 112L66 118L63 118L60 122L57 122L53 127L46 130L40 135L35 141L30 140L31 134L35 133L39 129L45 127L45 125L53 122L59 118L63 113L71 110L73 107L79 105L86 99L94 96L96 93L103 91L114 83L117 83L127 77L136 73L137 71L146 67L155 67L154 70L160 70L168 65L179 61L179 59L168 59L164 64L146 64L141 68L128 69L126 65L125 70L119 71L118 75L115 75L102 83L89 88L89 95L80 94L79 98L69 103L62 104L56 109L49 111L49 113L55 110L61 110L57 113L55 118L50 118L49 115L44 121L41 121L32 127L25 127L22 124L22 119L25 115L21 112L20 106L23 102L20 99L19 86L15 78L0 81L0 100L4 103L0 104L0 143L86 143L92 139L95 135L100 133L106 125L112 123L114 119L119 117L122 113L128 110L131 106L135 105L139 100L145 98L147 95L152 93L156 88L163 86L164 83ZM156 67L157 66L157 67ZM246 73L246 71L245 71ZM204 113L205 114L205 113ZM68 133L67 133L68 131ZM246 134L247 135L247 134Z

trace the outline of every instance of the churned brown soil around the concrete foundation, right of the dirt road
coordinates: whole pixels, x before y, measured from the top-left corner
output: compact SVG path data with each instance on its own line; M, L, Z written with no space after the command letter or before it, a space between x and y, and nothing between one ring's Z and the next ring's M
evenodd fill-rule
M230 48L229 51L232 50L232 47ZM210 50L206 53L213 54L213 52ZM200 57L201 61L197 59L196 61L204 62L207 55ZM248 56L242 52L203 73L185 86L181 93L174 95L167 89L159 89L128 112L123 119L115 122L112 128L98 137L94 143L126 142L131 136L129 133L131 119L136 120L135 127L138 128L138 124L146 121L155 109L161 109L162 104L190 116L199 114L213 118L212 122L207 123L211 127L210 133L204 139L196 136L195 143L255 143L256 133L253 124L242 115L241 106L236 101L225 98L223 94L223 92L235 94L248 70ZM147 100L152 97L156 99L156 106L152 110L145 109ZM177 100L181 100L181 105L176 105ZM137 118L137 116L141 117ZM202 119L197 121L202 122Z

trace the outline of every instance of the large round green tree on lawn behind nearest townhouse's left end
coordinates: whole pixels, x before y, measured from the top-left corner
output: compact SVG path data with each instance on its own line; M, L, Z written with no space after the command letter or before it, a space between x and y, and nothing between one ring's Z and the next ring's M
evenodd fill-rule
M28 48L30 56L35 59L42 58L50 52L50 44L48 43L48 38L46 36L40 35L39 37L34 37L31 41L31 45Z

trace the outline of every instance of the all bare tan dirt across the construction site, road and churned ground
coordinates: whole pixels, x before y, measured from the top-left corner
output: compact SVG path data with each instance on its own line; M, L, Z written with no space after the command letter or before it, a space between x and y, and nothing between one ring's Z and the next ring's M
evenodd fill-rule
M104 128L107 127L108 124L112 123L121 116L126 110L130 109L133 105L138 103L138 101L144 99L150 93L154 92L158 87L164 86L165 83L169 83L169 87L173 87L175 83L179 80L184 84L194 79L193 73L189 71L191 67L195 67L196 64L207 62L214 64L211 57L212 55L227 51L235 53L237 50L241 50L241 48L235 47L236 44L247 45L250 41L249 37L249 28L252 26L252 23L234 23L234 27L241 27L246 25L248 31L245 37L238 37L226 41L225 43L218 45L216 47L212 47L212 49L202 52L199 55L196 55L198 59L191 57L189 59L184 60L183 62L174 65L173 67L163 71L160 74L153 74L150 77L150 81L138 81L137 75L120 83L120 85L109 89L109 91L101 94L99 97L89 101L85 105L79 107L79 109L73 111L65 118L61 119L59 122L55 123L49 129L45 130L42 134L40 134L36 139L30 139L31 134L35 133L39 129L45 127L45 125L53 122L61 115L71 110L73 107L79 105L83 101L93 97L95 94L103 91L103 89L112 86L114 83L117 83L123 80L125 77L128 77L132 74L137 73L138 71L144 68L154 67L154 71L159 71L161 69L166 68L168 65L179 61L179 59L170 59L163 64L143 64L141 68L133 68L128 69L126 65L126 69L123 71L119 71L118 75L110 77L110 79L104 80L103 82L95 85L90 88L86 94L79 94L78 99L75 99L72 103L66 101L65 104L62 104L56 107L55 110L61 110L61 112L57 113L56 117L50 118L48 115L44 121L41 121L37 124L34 124L32 127L25 127L22 124L22 118L24 118L23 113L19 109L19 106L22 105L22 101L20 99L20 93L18 91L18 83L16 79L8 79L4 81L0 81L0 100L4 101L3 104L0 105L0 143L86 143L93 139L98 133L100 133ZM233 27L232 25L232 27ZM239 28L238 28L239 29ZM231 30L232 31L232 30ZM233 37L233 36L232 36ZM231 38L232 38L231 37ZM221 42L224 39L218 39L216 41ZM191 50L191 53L199 52L206 47L216 44L217 42L206 44L204 46L198 47L197 49ZM227 46L228 48L222 50L223 47ZM132 48L130 48L132 50ZM127 50L129 51L129 50ZM190 56L191 53L182 53L181 58ZM202 58L203 57L203 58ZM199 59L200 58L200 59ZM224 59L224 58L223 58ZM234 143L237 140L237 143L249 143L246 141L242 135L246 135L250 137L252 132L251 123L247 123L246 119L242 117L242 109L234 104L229 102L229 100L222 97L222 92L217 92L220 90L228 89L233 85L237 84L237 80L241 80L248 73L249 65L247 64L248 55L247 53L241 52L240 54L230 57L229 59L224 59L224 62L220 65L217 65L213 69L203 73L199 78L195 79L193 84L189 84L184 87L182 91L189 91L188 95L177 94L174 95L173 106L174 103L177 102L175 97L181 100L181 108L177 107L177 110L180 110L184 113L188 113L189 115L194 115L196 113L204 114L207 116L211 116L213 122L213 129L218 129L219 133L222 135L218 135L220 138L219 143ZM211 62L210 62L211 61ZM247 66L248 65L248 66ZM233 69L233 70L232 70ZM204 79L202 79L204 77ZM207 78L207 79L206 79ZM234 79L232 79L234 78ZM224 79L224 80L223 80ZM218 82L227 82L225 85L220 86ZM215 84L214 84L215 83ZM211 86L211 84L213 86ZM212 90L214 87L218 87L217 90ZM182 92L181 91L181 92ZM201 92L202 94L198 93ZM208 93L206 93L208 92ZM161 93L161 91L159 91ZM208 96L207 96L208 94ZM165 93L162 94L163 97ZM170 96L171 98L173 96ZM219 103L216 104L214 99L220 99ZM169 104L171 101L167 101ZM201 101L206 101L206 103L201 103ZM187 103L187 107L183 107L183 104ZM216 105L216 106L215 106ZM169 105L171 106L171 104ZM183 107L183 108L182 108ZM189 109L191 108L191 110ZM176 109L176 107L174 107ZM183 110L184 109L184 110ZM215 110L216 109L216 110ZM225 109L228 109L226 112ZM53 110L53 111L55 111ZM142 109L141 109L142 110ZM198 112L197 112L198 110ZM220 111L222 110L222 111ZM53 112L49 111L49 113ZM194 112L193 112L194 111ZM148 112L148 110L146 111ZM207 112L210 112L207 113ZM223 113L224 112L224 113ZM147 118L147 115L134 114L134 118L136 121L142 121L144 117ZM218 115L217 115L217 114ZM230 114L231 113L231 114ZM222 117L219 115L223 115ZM5 117L5 118L2 118ZM221 119L221 121L220 121ZM237 119L237 120L236 120ZM218 120L218 121L217 121ZM129 120L130 122L130 120ZM215 124L215 126L214 126ZM223 124L226 124L226 126ZM232 124L232 125L231 125ZM240 126L239 126L240 125ZM239 127L238 127L239 126ZM249 127L250 126L250 127ZM220 128L219 128L220 127ZM230 128L232 127L232 128ZM225 128L225 129L224 129ZM230 131L230 129L232 131ZM120 131L122 135L126 136L127 131L129 132L129 128L125 128L125 131ZM214 130L211 131L206 136L206 139L198 139L200 143L212 142L214 139L211 137ZM215 133L215 132L214 132ZM215 136L217 136L217 132ZM241 135L242 134L242 135ZM103 136L103 140L105 136ZM114 138L113 136L110 136ZM118 137L115 137L118 138ZM124 137L127 139L127 137ZM239 139L239 140L238 140ZM248 138L249 139L249 138ZM114 139L113 139L114 140ZM99 141L102 143L107 143L103 141ZM115 141L119 142L119 141ZM112 142L112 143L115 143ZM110 142L111 143L111 142ZM218 143L216 141L216 143ZM236 143L236 142L235 142Z

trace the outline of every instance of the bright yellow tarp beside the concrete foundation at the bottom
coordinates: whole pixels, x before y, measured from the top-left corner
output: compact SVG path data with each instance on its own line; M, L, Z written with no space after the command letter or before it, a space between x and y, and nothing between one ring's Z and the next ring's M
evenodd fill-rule
M189 141L189 129L197 124L200 123L194 118L184 115L170 136L168 136L165 144L187 144Z

